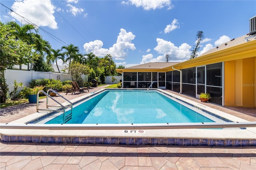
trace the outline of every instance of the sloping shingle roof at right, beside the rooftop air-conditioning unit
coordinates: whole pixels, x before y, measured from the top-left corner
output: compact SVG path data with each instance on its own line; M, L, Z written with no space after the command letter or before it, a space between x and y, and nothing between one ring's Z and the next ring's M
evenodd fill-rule
M234 39L230 40L229 42L222 43L222 44L218 45L217 47L214 47L213 49L206 51L199 57L204 56L206 54L214 53L216 51L220 51L222 49L226 49L226 48L229 48L229 47L241 44L241 43L245 43L245 42L247 42L247 40L245 40L245 38L248 38L248 37L250 37L249 34L246 34L246 35L238 37L238 38L234 38ZM256 37L248 38L248 41L255 40L255 38Z

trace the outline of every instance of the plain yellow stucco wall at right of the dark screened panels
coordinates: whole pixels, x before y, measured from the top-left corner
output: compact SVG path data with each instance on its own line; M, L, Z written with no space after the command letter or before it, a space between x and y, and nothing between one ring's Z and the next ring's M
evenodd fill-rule
M224 62L224 105L256 107L256 57Z

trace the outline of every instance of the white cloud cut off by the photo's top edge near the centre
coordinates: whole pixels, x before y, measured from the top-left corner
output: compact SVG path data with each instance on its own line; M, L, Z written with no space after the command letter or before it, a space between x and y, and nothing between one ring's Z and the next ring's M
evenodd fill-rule
M129 2L136 7L142 7L144 10L161 9L165 6L168 7L168 9L172 8L170 0L129 0ZM122 4L129 3L123 1Z

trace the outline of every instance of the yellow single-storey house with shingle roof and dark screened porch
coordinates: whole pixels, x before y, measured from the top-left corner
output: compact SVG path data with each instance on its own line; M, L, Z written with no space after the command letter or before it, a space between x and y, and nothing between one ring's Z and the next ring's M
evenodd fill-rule
M215 75L215 77L220 79L220 82L219 85L211 85L208 84L208 80L214 78L214 75L210 74L216 72L211 72L207 69L208 66L210 68L211 65L216 63L221 67L218 71L220 74L218 74L218 76ZM190 68L194 70L193 73L189 73ZM205 74L206 77L205 83L198 81L201 68L203 69L201 73L203 73L203 75ZM186 91L187 87L191 87L192 90L187 92L187 94L185 93L185 95L198 98L198 94L200 94L199 87L202 87L203 91L206 92L208 92L208 89L218 87L220 94L218 94L216 100L221 100L221 102L218 101L216 104L232 107L256 107L256 35L244 35L240 38L233 39L230 42L223 43L211 49L200 57L181 63L146 63L116 70L118 73L122 73L122 84L125 83L124 74L132 72L134 75L137 75L137 79L133 79L135 88L148 88L148 81L158 81L158 85L155 85L154 88L160 88L160 84L162 84L161 86L166 89L171 89L176 92L180 90L180 93L183 93ZM176 70L180 71L180 81L177 79L174 81L174 74L177 75L178 73ZM185 75L185 73L187 75ZM151 75L151 79L144 78L140 81L141 78L139 78L139 76L143 77L144 75L145 77L145 74ZM156 75L156 79L152 79L152 75ZM164 80L161 78L161 75L162 77L164 76ZM201 77L203 75L201 74ZM172 80L170 80L170 77L172 77ZM193 79L196 79L196 81ZM132 82L132 79L129 81ZM129 81L127 81L126 84ZM170 82L168 83L168 81ZM147 85L144 85L143 82L145 82L144 84L147 83ZM180 88L177 86L179 83ZM124 87L124 85L122 87L127 88ZM177 90L177 88L179 90ZM193 90L195 92L197 91L197 93L194 94Z

